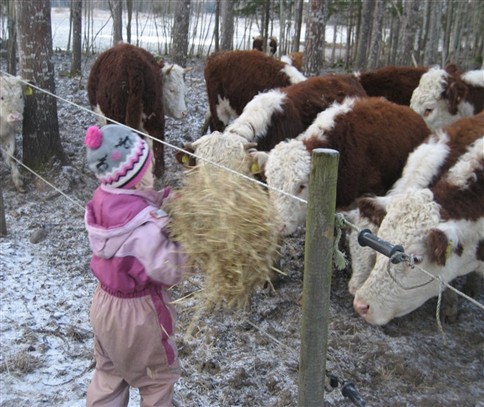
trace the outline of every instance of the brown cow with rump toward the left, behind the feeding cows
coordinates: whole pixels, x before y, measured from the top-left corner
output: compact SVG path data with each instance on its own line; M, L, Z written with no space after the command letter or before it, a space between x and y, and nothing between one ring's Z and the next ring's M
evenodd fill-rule
M210 55L204 77L211 131L223 131L258 93L306 79L293 66L254 50Z

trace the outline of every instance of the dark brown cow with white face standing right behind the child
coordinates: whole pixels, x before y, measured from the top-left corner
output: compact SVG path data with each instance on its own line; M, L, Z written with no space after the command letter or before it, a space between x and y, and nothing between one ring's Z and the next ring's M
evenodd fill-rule
M176 119L187 116L183 75L188 70L158 62L143 48L117 44L98 56L89 74L94 110L161 141L153 145L157 177L164 171L165 113Z

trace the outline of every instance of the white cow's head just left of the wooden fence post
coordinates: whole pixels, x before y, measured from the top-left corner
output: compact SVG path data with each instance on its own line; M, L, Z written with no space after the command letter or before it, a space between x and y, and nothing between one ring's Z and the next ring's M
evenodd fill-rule
M257 168L266 179L271 201L278 213L280 233L294 233L306 220L305 201L311 166L309 151L302 141L293 139L277 144L269 153L256 151L251 156L253 172Z

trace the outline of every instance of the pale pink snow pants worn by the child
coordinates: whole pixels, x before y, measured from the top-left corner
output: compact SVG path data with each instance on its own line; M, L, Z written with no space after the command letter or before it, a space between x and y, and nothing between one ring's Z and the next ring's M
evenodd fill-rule
M127 406L130 386L139 389L142 407L171 407L180 366L177 357L168 364L151 298L117 298L98 287L91 324L96 370L87 407Z

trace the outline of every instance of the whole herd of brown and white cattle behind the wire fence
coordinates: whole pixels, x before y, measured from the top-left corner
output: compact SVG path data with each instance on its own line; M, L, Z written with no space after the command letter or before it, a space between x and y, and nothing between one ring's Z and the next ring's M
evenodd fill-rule
M188 114L187 70L118 44L92 67L89 103L100 123L109 118L163 141L165 114ZM179 162L216 163L263 180L286 236L305 223L313 150L337 150L337 210L405 248L411 261L393 264L348 230L349 291L367 322L386 324L439 294L441 282L415 265L443 282L484 274L484 70L385 67L306 78L291 63L249 50L211 55L204 75L211 132L181 146ZM23 191L10 158L22 89L18 78L0 80L2 153ZM153 150L160 177L163 143Z

